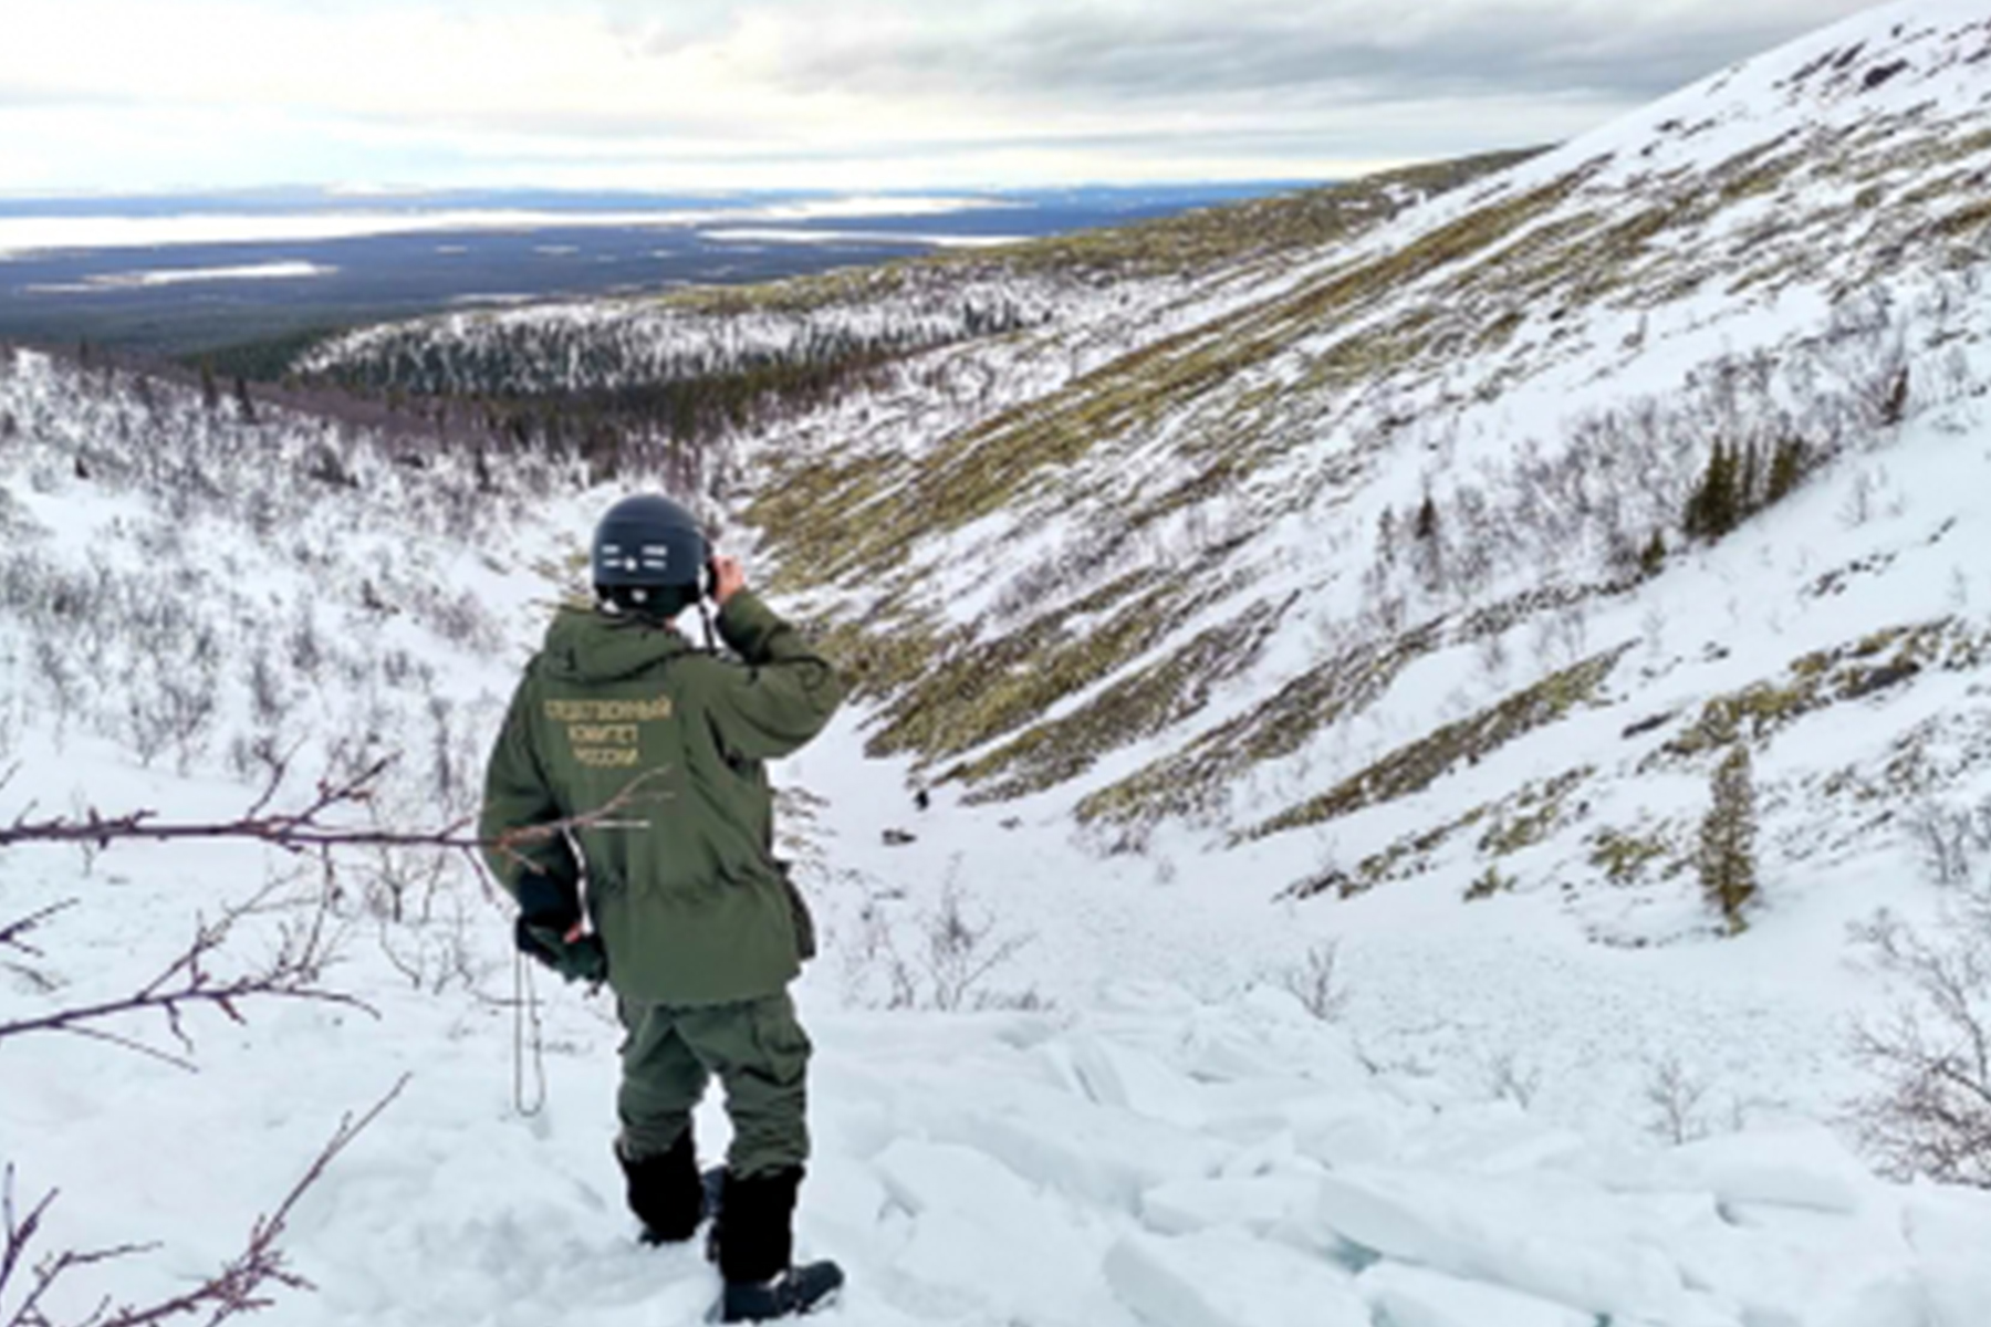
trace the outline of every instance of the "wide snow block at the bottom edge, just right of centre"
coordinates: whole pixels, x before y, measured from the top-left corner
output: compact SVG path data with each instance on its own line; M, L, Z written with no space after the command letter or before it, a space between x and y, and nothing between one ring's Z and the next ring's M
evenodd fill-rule
M1105 1271L1121 1303L1153 1327L1370 1327L1346 1271L1238 1230L1127 1235Z

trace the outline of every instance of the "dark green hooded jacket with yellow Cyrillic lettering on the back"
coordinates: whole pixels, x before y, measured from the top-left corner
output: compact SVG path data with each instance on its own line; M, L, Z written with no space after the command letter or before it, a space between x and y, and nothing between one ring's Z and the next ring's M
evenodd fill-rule
M816 736L842 684L751 591L727 599L719 635L739 661L665 627L561 609L484 780L486 844L625 798L597 826L486 848L486 861L528 917L577 919L585 877L609 985L637 1003L771 995L812 947L773 855L763 762Z

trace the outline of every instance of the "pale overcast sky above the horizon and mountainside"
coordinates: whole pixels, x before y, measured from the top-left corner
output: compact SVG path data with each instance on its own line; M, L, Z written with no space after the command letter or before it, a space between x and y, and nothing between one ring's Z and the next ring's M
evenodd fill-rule
M4 0L0 193L1312 179L1868 0Z

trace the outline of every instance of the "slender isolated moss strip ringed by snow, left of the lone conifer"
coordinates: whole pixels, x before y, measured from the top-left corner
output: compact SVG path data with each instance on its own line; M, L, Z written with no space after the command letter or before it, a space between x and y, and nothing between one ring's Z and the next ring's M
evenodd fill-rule
M1617 668L1631 645L1585 659L1553 672L1499 704L1445 724L1426 738L1400 746L1360 774L1342 780L1318 798L1244 830L1238 840L1266 838L1284 830L1352 816L1370 806L1424 792L1463 762L1479 762L1507 742L1545 728L1579 704L1589 704Z

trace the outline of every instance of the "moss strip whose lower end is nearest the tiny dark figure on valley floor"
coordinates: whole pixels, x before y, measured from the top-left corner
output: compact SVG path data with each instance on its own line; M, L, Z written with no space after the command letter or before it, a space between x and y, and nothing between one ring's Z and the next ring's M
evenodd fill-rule
M1103 754L1155 736L1203 710L1215 686L1258 661L1294 599L1252 605L1222 627L1197 635L1161 663L1121 678L1085 708L1037 724L980 760L954 766L944 780L986 784L1007 776L968 794L970 802L999 802L1077 778Z

